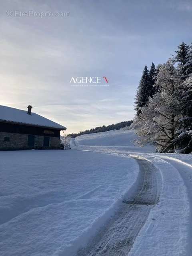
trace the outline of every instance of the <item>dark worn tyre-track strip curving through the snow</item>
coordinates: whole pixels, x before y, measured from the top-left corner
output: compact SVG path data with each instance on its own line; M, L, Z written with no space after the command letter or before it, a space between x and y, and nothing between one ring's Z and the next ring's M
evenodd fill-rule
M76 256L126 256L159 198L160 176L147 160L136 159L140 173L136 186L118 212Z

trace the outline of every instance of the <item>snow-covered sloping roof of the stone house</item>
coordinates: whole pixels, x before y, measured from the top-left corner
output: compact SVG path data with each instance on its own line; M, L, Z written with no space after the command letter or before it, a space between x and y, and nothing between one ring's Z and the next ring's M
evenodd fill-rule
M34 126L56 128L60 130L66 130L66 127L57 124L43 116L40 116L34 112L31 115L27 114L27 110L21 110L17 108L10 108L7 106L0 106L0 122L14 122L18 124L29 124Z

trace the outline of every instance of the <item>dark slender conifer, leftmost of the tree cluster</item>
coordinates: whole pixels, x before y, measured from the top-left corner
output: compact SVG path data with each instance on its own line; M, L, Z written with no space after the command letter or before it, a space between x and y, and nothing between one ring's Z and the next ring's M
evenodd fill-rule
M136 110L136 115L138 116L141 113L140 108L146 105L149 99L149 92L148 88L150 87L150 82L149 82L149 71L147 66L145 65L145 68L143 70L143 74L137 89L136 93L136 101L135 101L135 110Z

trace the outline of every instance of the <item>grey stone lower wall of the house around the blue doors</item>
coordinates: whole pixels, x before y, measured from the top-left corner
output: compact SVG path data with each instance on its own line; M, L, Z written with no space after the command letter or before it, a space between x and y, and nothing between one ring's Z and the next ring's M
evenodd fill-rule
M60 138L50 137L50 146L43 147L44 136L34 135L34 147L28 146L28 134L18 134L11 132L0 132L0 150L20 150L20 149L58 149L60 148ZM9 138L6 141L5 138Z

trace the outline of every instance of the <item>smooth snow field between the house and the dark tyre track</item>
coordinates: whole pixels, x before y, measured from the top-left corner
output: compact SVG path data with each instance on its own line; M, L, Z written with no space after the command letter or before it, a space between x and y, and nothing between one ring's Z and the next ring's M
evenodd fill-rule
M0 255L72 255L114 214L137 174L131 158L0 152Z

